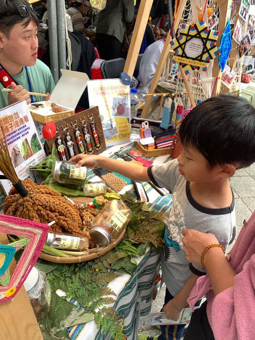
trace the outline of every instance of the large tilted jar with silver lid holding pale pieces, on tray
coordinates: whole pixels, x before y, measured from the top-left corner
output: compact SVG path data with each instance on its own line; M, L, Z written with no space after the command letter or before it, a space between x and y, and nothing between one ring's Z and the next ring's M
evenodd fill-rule
M106 247L119 238L131 219L131 210L119 200L111 201L91 221L90 237L100 246Z

